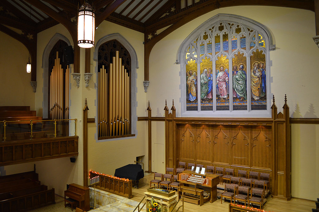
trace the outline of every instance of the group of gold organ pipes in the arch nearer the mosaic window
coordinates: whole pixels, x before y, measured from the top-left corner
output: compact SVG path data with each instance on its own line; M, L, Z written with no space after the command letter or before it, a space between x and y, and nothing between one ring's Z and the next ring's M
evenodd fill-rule
M130 121L129 75L116 51L107 73L104 65L98 73L99 137L128 135Z

